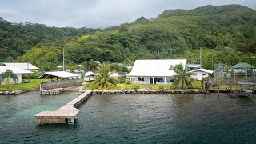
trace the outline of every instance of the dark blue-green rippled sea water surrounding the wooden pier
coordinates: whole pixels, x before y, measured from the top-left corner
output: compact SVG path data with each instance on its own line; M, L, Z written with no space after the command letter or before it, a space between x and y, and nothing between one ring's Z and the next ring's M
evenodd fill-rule
M35 124L77 96L0 96L0 143L256 142L256 98L226 94L93 95L74 126Z

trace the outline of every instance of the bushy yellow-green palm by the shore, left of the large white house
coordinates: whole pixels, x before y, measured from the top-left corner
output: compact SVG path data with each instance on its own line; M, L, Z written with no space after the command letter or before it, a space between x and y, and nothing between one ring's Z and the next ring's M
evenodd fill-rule
M116 78L111 77L113 72L110 69L110 65L103 63L98 73L95 75L95 80L90 83L90 86L94 89L110 89L116 86Z

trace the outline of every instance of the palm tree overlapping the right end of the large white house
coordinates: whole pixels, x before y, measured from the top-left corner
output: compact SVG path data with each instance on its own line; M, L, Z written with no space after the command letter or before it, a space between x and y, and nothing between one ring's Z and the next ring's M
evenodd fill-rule
M194 79L191 78L193 73L188 73L187 71L182 64L174 66L176 75L172 76L172 78L174 78L174 85L177 88L187 89L188 86L193 86Z

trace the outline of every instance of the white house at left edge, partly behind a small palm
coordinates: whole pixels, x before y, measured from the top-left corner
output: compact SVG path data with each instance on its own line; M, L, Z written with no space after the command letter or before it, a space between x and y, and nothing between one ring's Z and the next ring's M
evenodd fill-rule
M31 71L23 70L23 69L20 69L18 67L0 66L0 74L6 72L6 70L11 70L11 71L14 72L14 74L17 75L17 77L18 77L18 82L17 83L22 83L22 74L32 74ZM1 85L5 85L6 84L6 79L3 82L0 81L0 83L1 83ZM15 83L13 79L12 79L11 83Z

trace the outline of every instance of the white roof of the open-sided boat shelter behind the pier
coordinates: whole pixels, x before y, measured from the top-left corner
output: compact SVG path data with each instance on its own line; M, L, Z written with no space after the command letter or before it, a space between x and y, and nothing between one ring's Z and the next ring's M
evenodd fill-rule
M59 77L59 78L74 78L74 77L80 77L81 75L69 73L66 71L53 71L53 72L45 72L39 78L48 78L50 76Z

